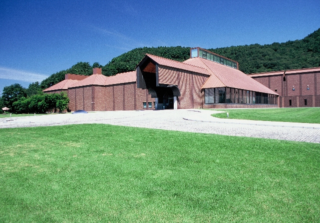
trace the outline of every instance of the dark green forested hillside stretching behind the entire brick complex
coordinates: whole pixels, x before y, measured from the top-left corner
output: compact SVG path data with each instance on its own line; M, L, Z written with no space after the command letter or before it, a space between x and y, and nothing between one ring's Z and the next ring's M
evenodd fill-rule
M320 28L301 40L283 43L274 42L265 45L251 44L211 48L208 50L238 61L239 69L244 73L316 67L320 66ZM184 61L190 57L190 47L135 48L113 58L105 66L98 62L95 62L92 66L88 62L79 62L67 70L52 74L41 82L41 87L44 89L62 81L66 73L91 75L94 67L102 67L102 74L107 76L131 71L135 69L146 53Z

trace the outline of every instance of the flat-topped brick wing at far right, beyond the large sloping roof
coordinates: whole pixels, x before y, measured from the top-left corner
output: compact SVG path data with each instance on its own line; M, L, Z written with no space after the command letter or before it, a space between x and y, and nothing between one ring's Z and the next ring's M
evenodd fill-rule
M250 73L279 94L279 107L320 107L320 67Z

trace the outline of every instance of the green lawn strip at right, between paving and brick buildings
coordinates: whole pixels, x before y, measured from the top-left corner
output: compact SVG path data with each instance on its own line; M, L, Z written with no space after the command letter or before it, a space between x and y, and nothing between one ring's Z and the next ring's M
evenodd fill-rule
M223 110L229 112L228 118L234 119L320 123L319 107L248 108L214 110ZM219 118L227 118L226 113L216 113L211 115Z

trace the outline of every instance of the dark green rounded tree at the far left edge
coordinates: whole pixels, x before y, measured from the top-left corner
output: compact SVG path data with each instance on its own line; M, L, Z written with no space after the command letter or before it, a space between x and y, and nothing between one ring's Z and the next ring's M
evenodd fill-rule
M10 86L5 86L2 93L2 100L5 106L10 109L13 108L13 103L18 101L22 97L27 97L25 88L19 83L11 84ZM14 110L12 110L14 111Z

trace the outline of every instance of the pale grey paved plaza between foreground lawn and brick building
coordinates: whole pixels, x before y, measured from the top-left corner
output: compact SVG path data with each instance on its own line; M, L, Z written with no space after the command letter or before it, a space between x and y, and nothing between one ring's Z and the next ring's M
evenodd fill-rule
M214 110L96 111L0 118L0 128L104 123L222 135L320 142L320 124L212 117Z

